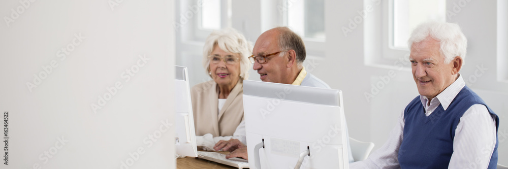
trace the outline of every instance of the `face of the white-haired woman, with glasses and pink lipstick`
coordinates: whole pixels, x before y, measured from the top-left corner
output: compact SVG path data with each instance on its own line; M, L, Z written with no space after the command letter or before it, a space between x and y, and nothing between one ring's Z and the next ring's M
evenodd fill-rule
M240 54L227 53L215 45L208 59L210 73L215 83L218 85L236 85L240 79Z

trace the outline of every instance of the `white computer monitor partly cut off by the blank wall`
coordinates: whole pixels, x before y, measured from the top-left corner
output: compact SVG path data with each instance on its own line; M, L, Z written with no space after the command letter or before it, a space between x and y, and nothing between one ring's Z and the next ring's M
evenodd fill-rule
M175 76L175 143L176 154L197 157L196 131L194 130L194 115L187 67L176 66Z

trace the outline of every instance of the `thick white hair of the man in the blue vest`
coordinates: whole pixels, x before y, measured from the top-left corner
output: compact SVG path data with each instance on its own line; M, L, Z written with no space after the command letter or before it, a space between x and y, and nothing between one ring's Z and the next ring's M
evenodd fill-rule
M456 56L466 57L467 39L456 23L425 22L412 31L407 41L409 49L412 44L420 43L427 38L439 41L439 51L444 57L444 63L450 63Z

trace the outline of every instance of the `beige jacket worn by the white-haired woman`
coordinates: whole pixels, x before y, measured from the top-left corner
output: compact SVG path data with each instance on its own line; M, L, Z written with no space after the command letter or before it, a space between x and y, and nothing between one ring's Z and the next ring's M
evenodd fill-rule
M218 111L218 88L213 80L197 84L190 90L196 136L211 133L213 137L233 136L243 120L243 84L238 81Z

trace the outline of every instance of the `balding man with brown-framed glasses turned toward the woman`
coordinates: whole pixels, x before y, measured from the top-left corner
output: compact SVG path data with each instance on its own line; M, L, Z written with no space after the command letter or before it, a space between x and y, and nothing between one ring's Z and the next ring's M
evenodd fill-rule
M302 38L287 27L276 27L265 31L256 41L249 60L254 64L263 82L284 83L300 86L327 88L321 79L305 71L305 45ZM242 121L238 127L245 127ZM346 136L349 136L346 128ZM247 148L237 139L218 142L214 149L230 151L226 158L247 159ZM353 162L349 139L347 139L350 162Z

